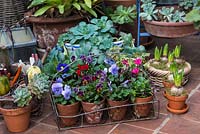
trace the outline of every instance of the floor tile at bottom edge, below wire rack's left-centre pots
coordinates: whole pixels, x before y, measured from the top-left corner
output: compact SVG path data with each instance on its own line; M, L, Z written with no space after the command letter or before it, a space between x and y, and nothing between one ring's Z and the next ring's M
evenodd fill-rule
M96 126L96 127L88 127L88 128L79 128L73 129L74 132L79 132L81 134L107 134L114 125L107 126Z

